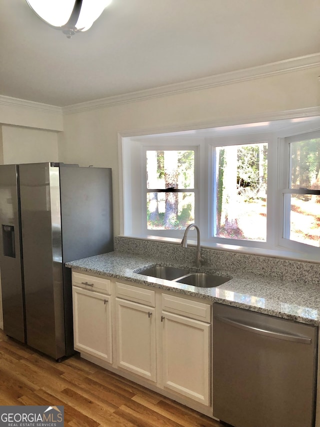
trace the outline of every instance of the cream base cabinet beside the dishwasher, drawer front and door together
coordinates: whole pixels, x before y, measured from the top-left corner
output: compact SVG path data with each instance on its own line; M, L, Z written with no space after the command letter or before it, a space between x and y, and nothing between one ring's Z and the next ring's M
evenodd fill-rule
M161 294L163 386L210 404L211 305Z

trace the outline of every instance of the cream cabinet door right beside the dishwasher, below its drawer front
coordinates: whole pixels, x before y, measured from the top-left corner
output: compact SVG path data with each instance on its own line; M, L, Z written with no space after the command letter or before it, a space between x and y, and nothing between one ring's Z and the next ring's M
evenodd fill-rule
M209 405L210 324L162 311L163 385Z

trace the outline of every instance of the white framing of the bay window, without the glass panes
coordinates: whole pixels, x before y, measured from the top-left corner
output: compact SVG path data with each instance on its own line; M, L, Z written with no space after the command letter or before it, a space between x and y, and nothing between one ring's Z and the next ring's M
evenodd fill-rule
M284 207L283 207L283 180L286 179L288 174L288 156L285 153L285 138L289 138L295 135L301 135L307 132L320 131L320 116L310 116L310 117L301 117L298 119L292 118L285 119L278 117L273 119L270 123L275 123L275 130L266 130L263 128L260 132L252 132L247 135L237 135L236 131L233 134L228 136L221 136L220 130L224 131L227 128L240 129L241 127L250 128L251 125L267 125L268 122L261 122L261 118L252 121L245 121L243 125L229 125L222 128L204 128L204 136L199 137L199 130L195 131L183 131L181 128L179 130L172 130L168 133L154 133L150 134L150 130L139 133L135 132L135 135L130 135L130 133L119 134L119 166L120 166L120 193L121 191L123 199L120 198L120 211L122 213L120 220L121 223L121 233L124 236L132 238L141 238L148 240L157 240L163 242L180 242L180 239L183 236L184 230L165 230L163 233L158 233L155 235L153 230L146 230L146 225L142 232L141 223L144 221L142 219L141 212L145 212L146 220L146 200L144 202L144 207L142 203L141 193L144 195L145 192L140 191L140 195L135 197L138 191L136 192L137 187L141 190L144 185L146 187L146 179L144 179L144 171L141 167L141 150L142 147L149 147L152 150L165 150L170 147L171 149L178 150L188 150L190 147L197 148L197 156L195 153L195 185L194 185L194 194L195 194L195 223L199 226L201 231L201 245L209 248L220 248L227 250L237 250L246 253L256 253L256 254L266 254L266 255L275 255L275 256L284 256L294 259L318 259L318 253L315 246L310 246L307 244L294 242L292 240L288 241L283 238L283 216L284 216ZM294 117L299 117L298 115ZM282 124L283 126L278 126ZM243 122L242 122L243 123ZM252 126L253 127L253 126ZM214 138L211 136L205 136L205 131L215 131L216 135ZM163 132L163 130L162 130ZM175 136L177 132L178 136ZM193 138L192 133L196 134ZM187 136L184 138L184 134ZM259 141L258 135L263 135L263 141ZM174 137L172 136L174 135ZM265 136L268 136L268 140L265 139ZM226 239L226 238L217 238L211 237L212 233L212 209L213 204L209 203L209 197L212 195L213 188L213 177L214 174L210 173L214 168L214 159L212 156L212 147L222 146L222 139L227 139L225 145L242 145L246 143L258 143L258 142L267 142L268 144L268 154L267 154L267 240L266 242L258 241L245 241L237 239ZM234 143L231 143L233 141ZM129 153L129 154L128 154ZM139 158L138 167L130 158L130 153L135 153L135 158ZM138 155L137 155L138 153ZM134 189L134 185L128 179L128 171L134 169L135 181L137 187ZM146 170L145 170L146 175ZM137 181L137 177L139 180ZM132 190L132 194L131 194ZM135 194L134 194L135 191ZM146 198L145 198L146 199ZM135 217L139 217L139 225L136 227L134 221L132 222L132 214ZM146 224L146 221L145 221ZM151 232L150 232L151 231ZM169 233L167 233L169 232ZM173 233L172 233L173 232ZM194 238L192 238L194 234ZM190 240L195 241L195 232L192 230L189 234ZM313 256L314 255L314 256Z

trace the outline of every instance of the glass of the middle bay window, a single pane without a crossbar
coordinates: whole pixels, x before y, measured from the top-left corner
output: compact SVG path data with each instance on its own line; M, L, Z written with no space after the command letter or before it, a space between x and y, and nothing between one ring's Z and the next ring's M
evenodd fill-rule
M266 241L267 146L214 148L213 236Z

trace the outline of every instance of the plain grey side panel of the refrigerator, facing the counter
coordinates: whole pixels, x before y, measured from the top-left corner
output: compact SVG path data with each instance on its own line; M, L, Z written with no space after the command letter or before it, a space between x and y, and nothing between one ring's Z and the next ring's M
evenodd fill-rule
M73 350L71 269L64 263L113 250L111 169L60 165L66 354Z

